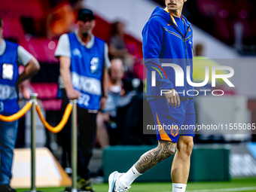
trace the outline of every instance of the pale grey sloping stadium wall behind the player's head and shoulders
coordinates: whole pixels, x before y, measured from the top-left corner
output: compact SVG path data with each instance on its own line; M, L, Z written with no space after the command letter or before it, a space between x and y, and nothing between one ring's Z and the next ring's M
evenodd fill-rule
M99 17L104 18L108 23L116 20L123 20L126 23L126 30L134 38L142 41L142 29L152 11L156 8L155 2L148 0L87 0L84 7L90 8ZM236 59L239 54L231 47L218 41L211 35L203 32L193 25L194 44L202 43L205 46L205 56L212 59Z

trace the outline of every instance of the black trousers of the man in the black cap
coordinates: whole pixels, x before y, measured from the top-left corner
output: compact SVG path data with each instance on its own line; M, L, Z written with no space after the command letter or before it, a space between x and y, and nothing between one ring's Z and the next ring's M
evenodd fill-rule
M62 90L62 111L65 111L69 99L66 91ZM96 137L96 116L95 113L89 113L87 109L78 106L78 175L81 178L90 178L88 165L90 157L93 155L93 142ZM71 164L71 136L72 126L71 117L63 130L59 133L59 139L63 148L62 162L63 167L67 167L67 160Z

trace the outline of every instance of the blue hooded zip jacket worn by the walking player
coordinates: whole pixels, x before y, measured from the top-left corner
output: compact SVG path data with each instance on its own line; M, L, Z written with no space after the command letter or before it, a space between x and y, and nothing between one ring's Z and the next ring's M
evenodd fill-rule
M185 35L181 34L172 17L164 9L157 7L142 30L143 57L147 69L147 96L148 100L160 96L160 90L175 89L180 97L188 96L187 90L194 87L187 84L187 67L190 66L190 80L193 82L193 30L187 19L181 15L186 26ZM180 66L184 72L182 76L171 66L162 66L163 63L172 63ZM178 69L180 69L178 67ZM151 74L155 71L156 84L151 86ZM181 72L181 70L179 70ZM179 72L179 73L180 73ZM177 81L175 81L177 75ZM194 94L189 92L190 95Z

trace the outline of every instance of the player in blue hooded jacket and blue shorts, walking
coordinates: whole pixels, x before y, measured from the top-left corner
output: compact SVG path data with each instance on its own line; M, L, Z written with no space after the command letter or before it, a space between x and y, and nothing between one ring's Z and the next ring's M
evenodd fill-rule
M157 148L143 154L128 172L111 173L108 192L127 191L139 175L171 157L175 150L172 191L186 189L194 128L183 128L195 125L194 96L190 93L194 88L187 83L187 76L193 81L193 31L181 15L186 1L166 0L166 8L156 8L142 31L148 101L155 126L163 129L157 130ZM190 72L182 76L187 66ZM171 129L164 129L164 126Z

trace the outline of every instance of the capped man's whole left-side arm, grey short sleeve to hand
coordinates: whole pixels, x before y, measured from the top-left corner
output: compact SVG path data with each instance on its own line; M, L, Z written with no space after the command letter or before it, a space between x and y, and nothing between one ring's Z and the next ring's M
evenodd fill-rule
M72 84L72 75L70 72L71 65L71 50L69 36L63 34L59 38L58 46L56 47L55 56L59 57L59 72L69 99L78 99L80 92L75 90Z

